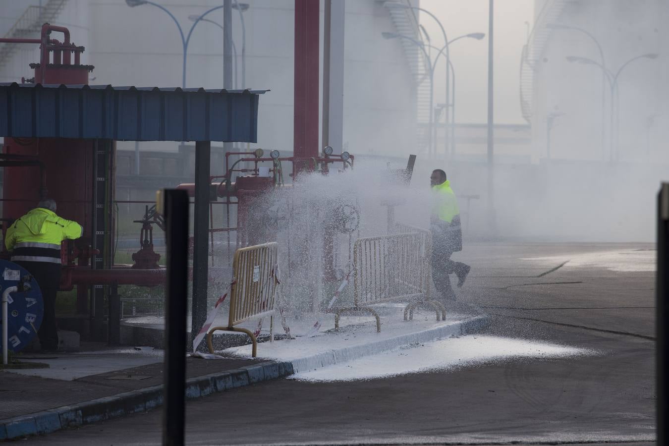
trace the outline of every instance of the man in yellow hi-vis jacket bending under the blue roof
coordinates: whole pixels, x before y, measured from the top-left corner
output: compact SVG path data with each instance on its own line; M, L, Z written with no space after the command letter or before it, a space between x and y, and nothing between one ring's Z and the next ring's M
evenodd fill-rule
M58 350L56 293L60 288L60 243L78 239L84 229L79 223L56 215L56 201L45 199L7 229L5 246L11 261L35 277L44 302L44 317L37 331L43 352Z

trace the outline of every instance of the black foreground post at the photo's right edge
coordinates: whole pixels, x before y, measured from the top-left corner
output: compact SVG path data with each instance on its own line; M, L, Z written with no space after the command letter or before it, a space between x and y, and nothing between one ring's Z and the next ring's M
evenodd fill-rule
M667 362L667 338L669 335L669 183L662 183L658 194L658 265L656 286L656 320L657 330L657 362L656 362L656 392L657 392L657 437L658 445L666 445L667 410L669 409L669 395L666 384L666 372L669 371Z

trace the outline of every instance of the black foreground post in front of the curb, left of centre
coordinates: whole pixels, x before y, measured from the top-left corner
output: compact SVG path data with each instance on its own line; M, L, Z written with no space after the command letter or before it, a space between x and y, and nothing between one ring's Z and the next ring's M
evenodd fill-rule
M188 194L165 189L162 198L167 241L163 445L177 446L185 439Z

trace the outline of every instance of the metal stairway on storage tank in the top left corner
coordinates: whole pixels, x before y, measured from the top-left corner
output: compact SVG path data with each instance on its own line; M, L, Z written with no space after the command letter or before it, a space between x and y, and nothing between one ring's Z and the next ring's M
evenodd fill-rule
M52 22L60 15L68 0L49 0L42 7L29 6L25 8L12 27L3 35L6 39L37 39L41 32L41 25ZM9 61L19 49L20 43L0 43L0 70L9 66Z

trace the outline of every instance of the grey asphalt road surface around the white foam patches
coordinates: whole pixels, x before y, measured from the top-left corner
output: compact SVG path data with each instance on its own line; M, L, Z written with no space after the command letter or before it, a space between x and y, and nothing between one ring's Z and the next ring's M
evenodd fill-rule
M592 348L597 355L509 359L369 381L265 382L188 403L187 443L650 444L654 273L612 271L599 264L611 263L606 255L597 256L610 251L622 264L625 255L638 263L635 253L644 251L634 250L649 248L473 245L460 257L473 268L456 306L492 314L489 334ZM550 273L562 260L522 260L593 253L592 264L573 260ZM153 411L24 443L160 441L161 412Z

